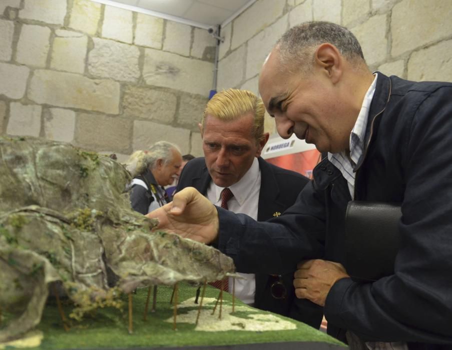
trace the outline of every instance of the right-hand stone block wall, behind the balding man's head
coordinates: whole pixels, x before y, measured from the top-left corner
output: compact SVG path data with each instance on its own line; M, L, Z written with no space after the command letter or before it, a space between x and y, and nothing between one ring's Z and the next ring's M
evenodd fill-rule
M257 0L221 31L218 90L258 93L258 74L282 33L307 20L344 25L371 70L411 80L452 81L450 0ZM267 115L267 131L275 132Z

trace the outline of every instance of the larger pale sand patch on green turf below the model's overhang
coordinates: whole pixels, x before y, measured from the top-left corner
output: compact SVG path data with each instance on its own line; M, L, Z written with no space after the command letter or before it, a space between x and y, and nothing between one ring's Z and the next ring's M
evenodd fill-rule
M215 313L212 314L215 306L215 298L204 298L201 313L199 315L198 325L195 330L199 331L226 331L226 330L246 330L246 331L266 331L266 330L282 330L282 329L296 329L296 324L280 317L264 313L256 308L249 306L236 305L235 312L246 312L246 318L232 315L232 303L223 300L221 311L221 319L218 318L219 307L218 303ZM177 305L177 308L194 307L194 298L185 300ZM196 305L197 306L197 305ZM190 310L184 314L177 315L177 322L186 322L194 324L198 310ZM173 317L165 320L166 322L173 322Z

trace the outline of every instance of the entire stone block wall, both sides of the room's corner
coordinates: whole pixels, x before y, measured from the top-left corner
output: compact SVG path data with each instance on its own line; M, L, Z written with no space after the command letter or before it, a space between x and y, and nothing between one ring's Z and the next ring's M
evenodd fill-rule
M450 0L257 0L221 29L217 90L258 93L276 40L306 20L349 27L372 70L452 81ZM89 0L0 0L0 133L115 152L156 140L202 154L206 30ZM265 121L274 132L274 121Z

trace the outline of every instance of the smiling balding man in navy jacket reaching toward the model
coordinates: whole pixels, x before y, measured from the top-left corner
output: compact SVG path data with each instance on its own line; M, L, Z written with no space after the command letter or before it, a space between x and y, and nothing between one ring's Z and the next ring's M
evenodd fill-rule
M259 91L282 137L328 152L295 204L257 222L186 188L149 217L214 242L239 270L298 263L296 295L324 305L328 333L350 348L450 349L452 83L372 73L350 30L307 22L272 49ZM355 281L343 266L352 199L401 204L394 271L375 281Z

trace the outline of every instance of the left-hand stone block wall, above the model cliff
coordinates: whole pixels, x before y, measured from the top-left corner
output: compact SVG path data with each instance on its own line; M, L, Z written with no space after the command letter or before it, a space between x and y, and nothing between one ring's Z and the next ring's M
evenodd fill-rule
M201 155L213 80L206 30L89 0L0 0L0 134L115 152Z

